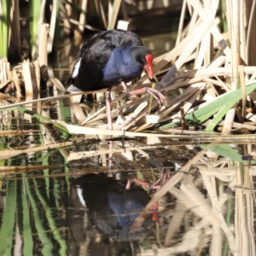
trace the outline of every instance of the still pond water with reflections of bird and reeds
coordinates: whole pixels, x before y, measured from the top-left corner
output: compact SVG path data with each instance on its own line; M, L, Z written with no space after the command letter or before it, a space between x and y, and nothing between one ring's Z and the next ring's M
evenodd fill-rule
M49 125L39 126L30 128L40 128L40 134L16 136L20 144L1 137L5 148L35 151L0 158L5 166L0 255L230 255L236 239L246 236L244 229L253 249L255 194L232 185L241 178L237 184L253 188L254 167L241 160L247 145L215 145L201 155L131 233L157 186L148 190L132 182L127 189L127 182L135 178L152 185L163 175L166 180L175 177L178 166L193 160L202 146L181 139L119 138L112 145L116 152L106 154L108 141L65 139ZM61 146L54 148L54 141ZM44 144L49 148L40 150ZM239 168L232 167L238 162ZM163 183L164 178L159 185Z

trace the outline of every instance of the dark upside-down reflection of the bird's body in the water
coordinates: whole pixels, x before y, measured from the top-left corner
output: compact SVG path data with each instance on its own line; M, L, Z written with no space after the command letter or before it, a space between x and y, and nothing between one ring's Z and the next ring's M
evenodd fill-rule
M92 224L114 240L137 240L145 236L150 223L153 224L149 218L140 231L130 233L131 224L150 200L148 193L141 187L132 185L127 190L126 182L104 174L73 177L72 183L82 189L80 200L84 200L82 204L89 210Z

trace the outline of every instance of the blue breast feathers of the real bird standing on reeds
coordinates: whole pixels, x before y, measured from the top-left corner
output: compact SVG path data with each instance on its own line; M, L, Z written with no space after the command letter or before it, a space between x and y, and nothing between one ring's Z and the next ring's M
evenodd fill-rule
M113 49L107 65L102 69L103 82L127 81L143 72L143 67L131 55L131 47Z

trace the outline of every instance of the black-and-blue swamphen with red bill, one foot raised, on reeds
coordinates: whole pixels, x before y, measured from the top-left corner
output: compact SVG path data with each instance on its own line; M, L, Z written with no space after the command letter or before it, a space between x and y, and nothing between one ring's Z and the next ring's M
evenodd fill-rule
M67 90L100 90L106 92L108 129L113 129L110 91L113 85L122 84L128 96L148 92L160 105L166 105L166 97L152 88L129 90L126 83L136 79L143 70L149 79L154 79L152 67L153 55L143 46L141 38L134 32L109 30L96 33L79 50L73 72L66 84L72 84Z

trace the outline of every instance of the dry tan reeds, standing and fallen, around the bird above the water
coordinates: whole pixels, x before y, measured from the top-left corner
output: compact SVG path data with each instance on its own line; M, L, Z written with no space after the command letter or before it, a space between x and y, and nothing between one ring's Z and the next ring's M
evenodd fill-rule
M206 131L216 131L218 126L222 134L230 134L231 131L236 130L236 123L247 122L249 126L246 129L250 130L252 127L252 131L254 130L256 67L253 66L253 59L250 58L253 49L249 49L252 47L249 42L253 40L253 34L249 35L252 30L253 12L246 16L247 29L246 24L238 26L238 23L243 23L237 20L242 20L241 10L247 10L247 3L244 2L240 9L237 7L238 3L223 2L227 11L221 18L229 28L224 33L219 31L217 23L218 1L202 5L199 1L183 2L176 46L154 60L155 79L158 81L156 88L166 96L177 89L183 89L183 93L168 101L168 106L162 108L158 107L157 102L152 102L152 99L149 103L148 96L133 98L128 102L124 102L125 94L114 96L112 116L117 120L116 129L121 126L123 131L145 131L157 123L162 131L170 132L183 121L185 126L207 124ZM53 15L57 12L57 5L57 3L53 5L55 7ZM112 19L116 20L119 2L114 2L114 6L109 22ZM84 5L82 7L84 9ZM41 8L39 20L42 21L44 3ZM189 9L191 20L186 27L183 27L186 9ZM236 17L233 17L235 14ZM84 20L83 15L82 12L81 20ZM42 23L38 27L40 31L38 61L24 61L21 68L18 66L10 71L9 62L6 59L1 60L0 85L4 87L3 89L15 87L17 96L21 97L21 94L29 96L38 93L42 82L49 80L47 54L51 51L54 40L52 27L54 27L52 23L49 26ZM110 24L108 28L113 28L113 25ZM36 39L33 40L32 45L35 45ZM238 48L237 45L240 47ZM170 63L172 63L171 68L168 67ZM191 63L194 65L193 69L186 69L188 63L190 66ZM51 78L51 82L59 90L65 91L58 79ZM131 90L142 86L151 86L146 75L132 84ZM115 90L119 89L119 86L115 88ZM95 92L97 91L84 92L84 94ZM123 102L121 106L119 102ZM71 106L82 125L102 128L106 120L104 108L91 115L79 104L73 102ZM183 115L179 110L181 107L183 107ZM210 123L209 119L211 119Z

